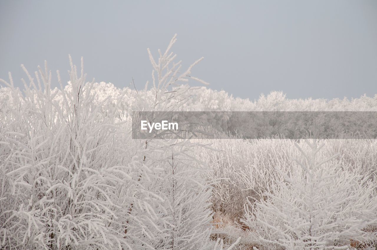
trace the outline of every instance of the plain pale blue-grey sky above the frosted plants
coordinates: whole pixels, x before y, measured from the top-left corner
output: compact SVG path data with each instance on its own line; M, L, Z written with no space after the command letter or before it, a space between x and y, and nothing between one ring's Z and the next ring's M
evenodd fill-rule
M17 86L48 61L67 80L68 54L88 80L125 87L151 78L147 47L173 52L193 75L233 96L377 94L377 1L0 0L0 78Z

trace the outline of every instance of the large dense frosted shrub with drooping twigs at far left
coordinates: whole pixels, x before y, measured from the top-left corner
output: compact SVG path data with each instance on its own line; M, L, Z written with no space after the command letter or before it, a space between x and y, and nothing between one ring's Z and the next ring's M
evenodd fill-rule
M81 62L82 63L82 62ZM103 116L70 60L72 91L63 101L51 89L51 72L26 71L24 93L5 82L19 106L0 116L0 237L5 249L109 249L127 245L132 183L115 138L121 126ZM58 73L58 79L60 76ZM132 185L132 184L131 184Z

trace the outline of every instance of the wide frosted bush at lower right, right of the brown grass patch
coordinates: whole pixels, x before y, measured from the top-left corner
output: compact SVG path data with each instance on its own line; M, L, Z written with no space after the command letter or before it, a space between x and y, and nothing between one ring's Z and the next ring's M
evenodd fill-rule
M250 197L244 223L265 249L348 249L351 241L375 242L377 197L369 173L325 159L317 142L289 167L262 199ZM254 202L255 201L255 202Z

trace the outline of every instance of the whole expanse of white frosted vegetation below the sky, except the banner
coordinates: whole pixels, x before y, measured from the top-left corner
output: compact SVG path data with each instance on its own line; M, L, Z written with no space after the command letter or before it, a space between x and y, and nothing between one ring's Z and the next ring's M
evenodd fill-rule
M233 98L192 75L202 58L182 69L175 41L148 50L143 90L87 82L71 58L68 83L47 64L24 69L22 90L2 80L0 249L376 249L376 140L244 140L213 128L233 138L138 140L130 114L377 111L377 95Z

